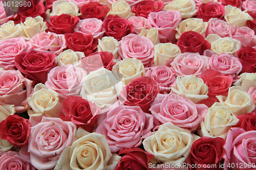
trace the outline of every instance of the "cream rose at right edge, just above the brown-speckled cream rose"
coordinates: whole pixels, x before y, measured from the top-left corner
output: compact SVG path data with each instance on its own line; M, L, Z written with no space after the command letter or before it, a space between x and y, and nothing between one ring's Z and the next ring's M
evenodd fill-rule
M241 86L229 87L227 96L217 95L216 98L236 116L251 112L255 108L250 95Z

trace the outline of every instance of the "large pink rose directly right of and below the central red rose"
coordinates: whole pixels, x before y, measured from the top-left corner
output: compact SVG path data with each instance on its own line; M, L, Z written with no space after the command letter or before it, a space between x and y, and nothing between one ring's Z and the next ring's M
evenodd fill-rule
M193 132L204 119L208 107L170 92L157 94L155 101L151 103L150 111L161 125L172 122L175 126Z

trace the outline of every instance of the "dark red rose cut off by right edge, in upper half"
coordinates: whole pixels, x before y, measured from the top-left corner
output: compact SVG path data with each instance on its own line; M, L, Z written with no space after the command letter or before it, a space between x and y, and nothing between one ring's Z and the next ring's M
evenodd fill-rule
M237 51L237 58L242 63L243 72L256 72L256 50L250 46L246 46Z

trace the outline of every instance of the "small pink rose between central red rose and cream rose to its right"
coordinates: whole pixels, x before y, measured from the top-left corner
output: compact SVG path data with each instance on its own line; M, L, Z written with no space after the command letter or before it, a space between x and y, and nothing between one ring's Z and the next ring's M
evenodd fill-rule
M169 93L170 87L176 86L176 73L173 67L166 67L165 65L145 68L146 77L155 80L161 93Z

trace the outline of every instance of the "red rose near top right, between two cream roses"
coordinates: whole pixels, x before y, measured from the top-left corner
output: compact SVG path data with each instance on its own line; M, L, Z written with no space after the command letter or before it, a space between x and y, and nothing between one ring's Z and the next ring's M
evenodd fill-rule
M208 22L210 18L221 19L225 15L225 6L216 3L201 4L198 7L197 17L203 18L204 22Z

